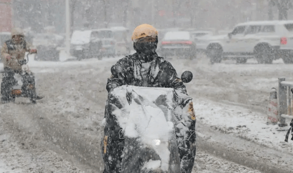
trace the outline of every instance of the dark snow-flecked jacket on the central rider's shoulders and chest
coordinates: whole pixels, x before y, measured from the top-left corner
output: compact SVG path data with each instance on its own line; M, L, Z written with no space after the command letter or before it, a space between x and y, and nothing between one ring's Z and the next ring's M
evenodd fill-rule
M150 67L146 76L141 73L142 62L138 54L132 54L119 60L112 68L112 75L108 78L106 89L108 92L122 85L147 86L159 88L173 88L187 93L182 80L177 77L176 70L163 57L152 54ZM147 85L143 81L147 80Z

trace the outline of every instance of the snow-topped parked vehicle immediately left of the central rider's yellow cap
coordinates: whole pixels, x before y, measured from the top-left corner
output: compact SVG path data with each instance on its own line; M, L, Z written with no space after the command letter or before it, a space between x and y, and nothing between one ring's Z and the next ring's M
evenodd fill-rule
M130 49L132 47L131 36L129 30L123 26L111 27L114 39L116 41L115 49L117 55L127 55L130 54Z

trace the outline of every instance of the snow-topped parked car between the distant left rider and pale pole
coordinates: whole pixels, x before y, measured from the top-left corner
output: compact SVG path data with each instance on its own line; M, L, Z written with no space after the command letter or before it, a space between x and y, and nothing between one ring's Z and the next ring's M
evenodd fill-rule
M42 33L36 34L33 38L33 45L37 47L36 61L59 61L60 47L64 38L57 34Z

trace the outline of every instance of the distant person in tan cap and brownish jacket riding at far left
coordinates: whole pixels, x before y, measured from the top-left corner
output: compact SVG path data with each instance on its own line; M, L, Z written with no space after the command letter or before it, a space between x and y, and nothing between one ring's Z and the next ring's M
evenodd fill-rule
M1 83L2 103L14 100L11 95L11 87L15 81L14 74L21 71L21 65L18 62L24 60L25 52L37 53L37 49L31 49L31 45L25 41L24 33L20 28L13 28L11 31L11 40L7 40L1 50L1 58L4 64ZM35 98L33 98L34 102L36 99L42 99L42 97L35 95Z

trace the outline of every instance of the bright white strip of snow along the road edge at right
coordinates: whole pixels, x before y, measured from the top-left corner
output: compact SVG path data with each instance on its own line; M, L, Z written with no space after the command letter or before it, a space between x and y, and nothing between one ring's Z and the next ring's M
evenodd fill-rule
M214 130L253 140L278 150L293 152L293 142L284 142L287 131L277 131L278 125L265 124L265 114L210 100L194 100L194 110L198 122L207 124Z

